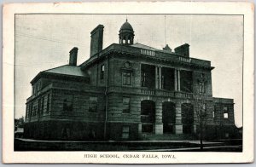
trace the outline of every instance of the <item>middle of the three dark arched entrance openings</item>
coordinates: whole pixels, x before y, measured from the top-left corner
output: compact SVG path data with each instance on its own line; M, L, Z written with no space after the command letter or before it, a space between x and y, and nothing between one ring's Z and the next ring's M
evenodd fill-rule
M175 103L165 101L162 104L162 120L163 130L165 134L173 133L173 125L175 124Z

